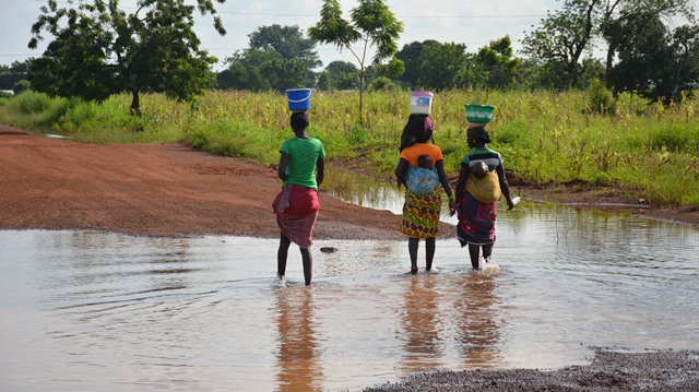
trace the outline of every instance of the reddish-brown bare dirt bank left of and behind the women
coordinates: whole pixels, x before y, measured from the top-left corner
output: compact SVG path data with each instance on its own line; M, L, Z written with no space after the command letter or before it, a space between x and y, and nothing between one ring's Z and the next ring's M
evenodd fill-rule
M0 126L0 229L279 238L273 168L183 144L84 144ZM316 239L404 239L400 215L324 192ZM441 224L440 236L454 235Z

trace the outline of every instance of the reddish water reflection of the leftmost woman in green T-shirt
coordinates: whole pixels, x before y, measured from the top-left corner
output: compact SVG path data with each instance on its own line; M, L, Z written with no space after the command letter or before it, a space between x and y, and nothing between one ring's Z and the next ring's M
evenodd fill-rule
M275 287L277 391L320 391L323 372L311 287Z

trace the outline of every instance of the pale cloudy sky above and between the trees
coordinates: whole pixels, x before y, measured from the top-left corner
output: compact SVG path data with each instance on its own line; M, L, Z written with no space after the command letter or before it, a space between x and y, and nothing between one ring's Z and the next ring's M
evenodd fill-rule
M187 0L193 3L193 0ZM68 1L58 0L66 7ZM0 64L10 66L14 61L24 61L42 56L51 36L38 49L27 48L32 38L31 28L40 15L46 0L0 0ZM135 11L135 0L121 0L123 11ZM440 43L465 44L466 50L477 51L491 40L509 35L512 47L521 49L520 40L525 32L533 29L546 16L548 10L559 7L556 0L384 0L384 3L403 22L404 31L399 39L399 50L413 41L435 39ZM341 0L345 20L357 5L355 0ZM213 28L210 15L197 16L194 31L202 40L202 48L218 58L214 68L224 68L223 60L236 51L249 47L248 35L260 26L279 24L298 26L305 36L307 29L320 20L321 0L227 0L216 4L227 31L220 36ZM353 47L359 52L360 47ZM353 55L344 49L340 51L332 45L316 47L323 68L331 61L350 61L357 66ZM370 51L365 63L370 62Z

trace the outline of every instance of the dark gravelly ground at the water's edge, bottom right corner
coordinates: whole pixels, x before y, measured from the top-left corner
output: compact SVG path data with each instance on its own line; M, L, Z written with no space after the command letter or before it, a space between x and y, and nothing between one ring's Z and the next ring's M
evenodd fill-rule
M699 352L594 349L590 365L557 370L502 369L435 371L365 392L417 391L699 391Z

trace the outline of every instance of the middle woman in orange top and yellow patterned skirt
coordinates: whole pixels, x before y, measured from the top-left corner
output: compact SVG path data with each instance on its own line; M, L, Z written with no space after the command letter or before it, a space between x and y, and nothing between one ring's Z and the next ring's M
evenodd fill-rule
M410 166L417 166L422 155L428 155L439 174L441 188L449 197L449 213L454 214L454 200L451 194L449 179L445 173L445 158L441 150L429 143L433 139L433 121L427 115L411 115L403 134L401 135L401 158L395 168L395 178L399 187L406 185L406 173ZM407 236L407 250L411 256L411 273L417 273L417 249L419 239L425 239L426 265L425 271L430 271L435 258L435 237L439 226L441 212L441 191L437 186L427 194L417 194L405 189L405 203L403 204L403 219L401 233Z

